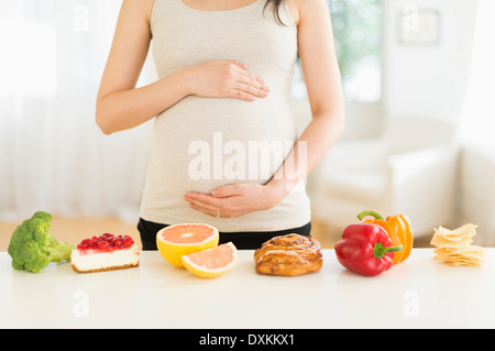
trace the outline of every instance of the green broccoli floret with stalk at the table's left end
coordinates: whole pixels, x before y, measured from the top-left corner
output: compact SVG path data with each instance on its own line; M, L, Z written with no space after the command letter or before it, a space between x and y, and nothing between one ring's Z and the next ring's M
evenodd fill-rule
M8 252L12 267L38 273L50 262L70 261L75 249L68 243L58 243L50 233L52 215L37 211L15 229Z

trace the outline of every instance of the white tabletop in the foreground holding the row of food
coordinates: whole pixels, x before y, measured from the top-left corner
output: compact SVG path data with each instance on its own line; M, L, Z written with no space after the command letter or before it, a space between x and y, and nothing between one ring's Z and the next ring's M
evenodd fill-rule
M364 277L323 250L320 272L262 276L253 251L202 279L142 252L141 266L77 274L68 263L14 271L0 253L0 328L494 328L495 249L482 267L452 267L415 249Z

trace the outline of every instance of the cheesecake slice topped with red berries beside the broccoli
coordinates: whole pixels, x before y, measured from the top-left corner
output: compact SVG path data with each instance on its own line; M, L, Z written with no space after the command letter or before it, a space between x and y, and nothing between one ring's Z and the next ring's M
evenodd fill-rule
M95 273L132 268L140 265L140 251L129 235L85 239L70 255L72 267L78 273Z

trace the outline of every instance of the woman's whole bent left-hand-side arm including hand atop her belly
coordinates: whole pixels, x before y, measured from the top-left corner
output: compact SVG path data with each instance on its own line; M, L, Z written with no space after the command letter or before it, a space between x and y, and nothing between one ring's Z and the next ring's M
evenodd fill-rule
M124 0L97 97L96 121L111 134L140 125L188 95L253 101L266 97L263 79L237 62L186 67L135 88L150 48L154 0Z

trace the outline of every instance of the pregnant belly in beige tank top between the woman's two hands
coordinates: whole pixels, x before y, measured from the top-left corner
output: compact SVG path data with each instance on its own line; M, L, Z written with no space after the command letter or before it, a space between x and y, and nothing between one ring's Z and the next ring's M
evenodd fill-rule
M189 97L155 121L148 186L172 196L238 182L264 184L296 135L290 109L273 100Z

